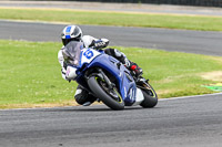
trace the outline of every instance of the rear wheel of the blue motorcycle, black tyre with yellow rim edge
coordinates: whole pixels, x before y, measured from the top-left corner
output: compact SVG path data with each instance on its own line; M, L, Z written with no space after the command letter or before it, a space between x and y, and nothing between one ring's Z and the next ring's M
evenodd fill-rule
M147 83L143 85L142 93L144 96L144 101L140 104L144 108L152 108L158 104L158 95L153 87Z

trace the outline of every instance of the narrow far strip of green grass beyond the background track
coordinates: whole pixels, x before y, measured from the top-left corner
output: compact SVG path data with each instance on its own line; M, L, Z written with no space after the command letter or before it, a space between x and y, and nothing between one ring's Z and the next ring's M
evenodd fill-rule
M65 22L74 24L222 31L222 17L0 8L0 19Z

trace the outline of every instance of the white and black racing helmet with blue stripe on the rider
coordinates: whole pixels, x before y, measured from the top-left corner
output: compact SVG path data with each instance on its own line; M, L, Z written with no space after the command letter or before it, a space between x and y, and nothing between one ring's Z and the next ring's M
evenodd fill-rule
M81 41L82 30L78 25L68 25L62 30L61 39L63 45L70 41Z

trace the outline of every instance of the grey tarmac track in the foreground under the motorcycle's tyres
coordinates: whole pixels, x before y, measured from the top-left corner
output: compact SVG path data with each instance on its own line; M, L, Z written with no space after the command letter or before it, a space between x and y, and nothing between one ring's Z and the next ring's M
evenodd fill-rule
M0 111L1 147L221 147L220 95L161 101L155 108L104 105Z

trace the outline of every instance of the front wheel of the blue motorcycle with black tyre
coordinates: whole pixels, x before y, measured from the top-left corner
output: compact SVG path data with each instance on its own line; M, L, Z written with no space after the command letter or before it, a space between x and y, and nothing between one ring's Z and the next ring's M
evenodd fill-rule
M124 108L124 102L117 87L110 90L108 84L98 76L91 76L88 80L88 85L97 97L111 109L120 111Z

